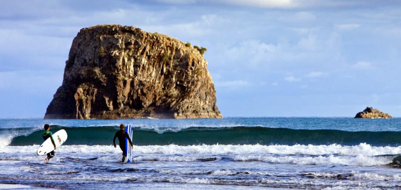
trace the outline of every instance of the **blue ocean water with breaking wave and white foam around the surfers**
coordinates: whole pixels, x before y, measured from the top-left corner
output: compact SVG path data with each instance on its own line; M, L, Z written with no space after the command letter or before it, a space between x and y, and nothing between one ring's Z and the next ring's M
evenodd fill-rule
M68 133L50 163L45 123ZM112 145L121 123L132 163ZM24 188L395 189L398 153L401 118L0 119L0 183Z

